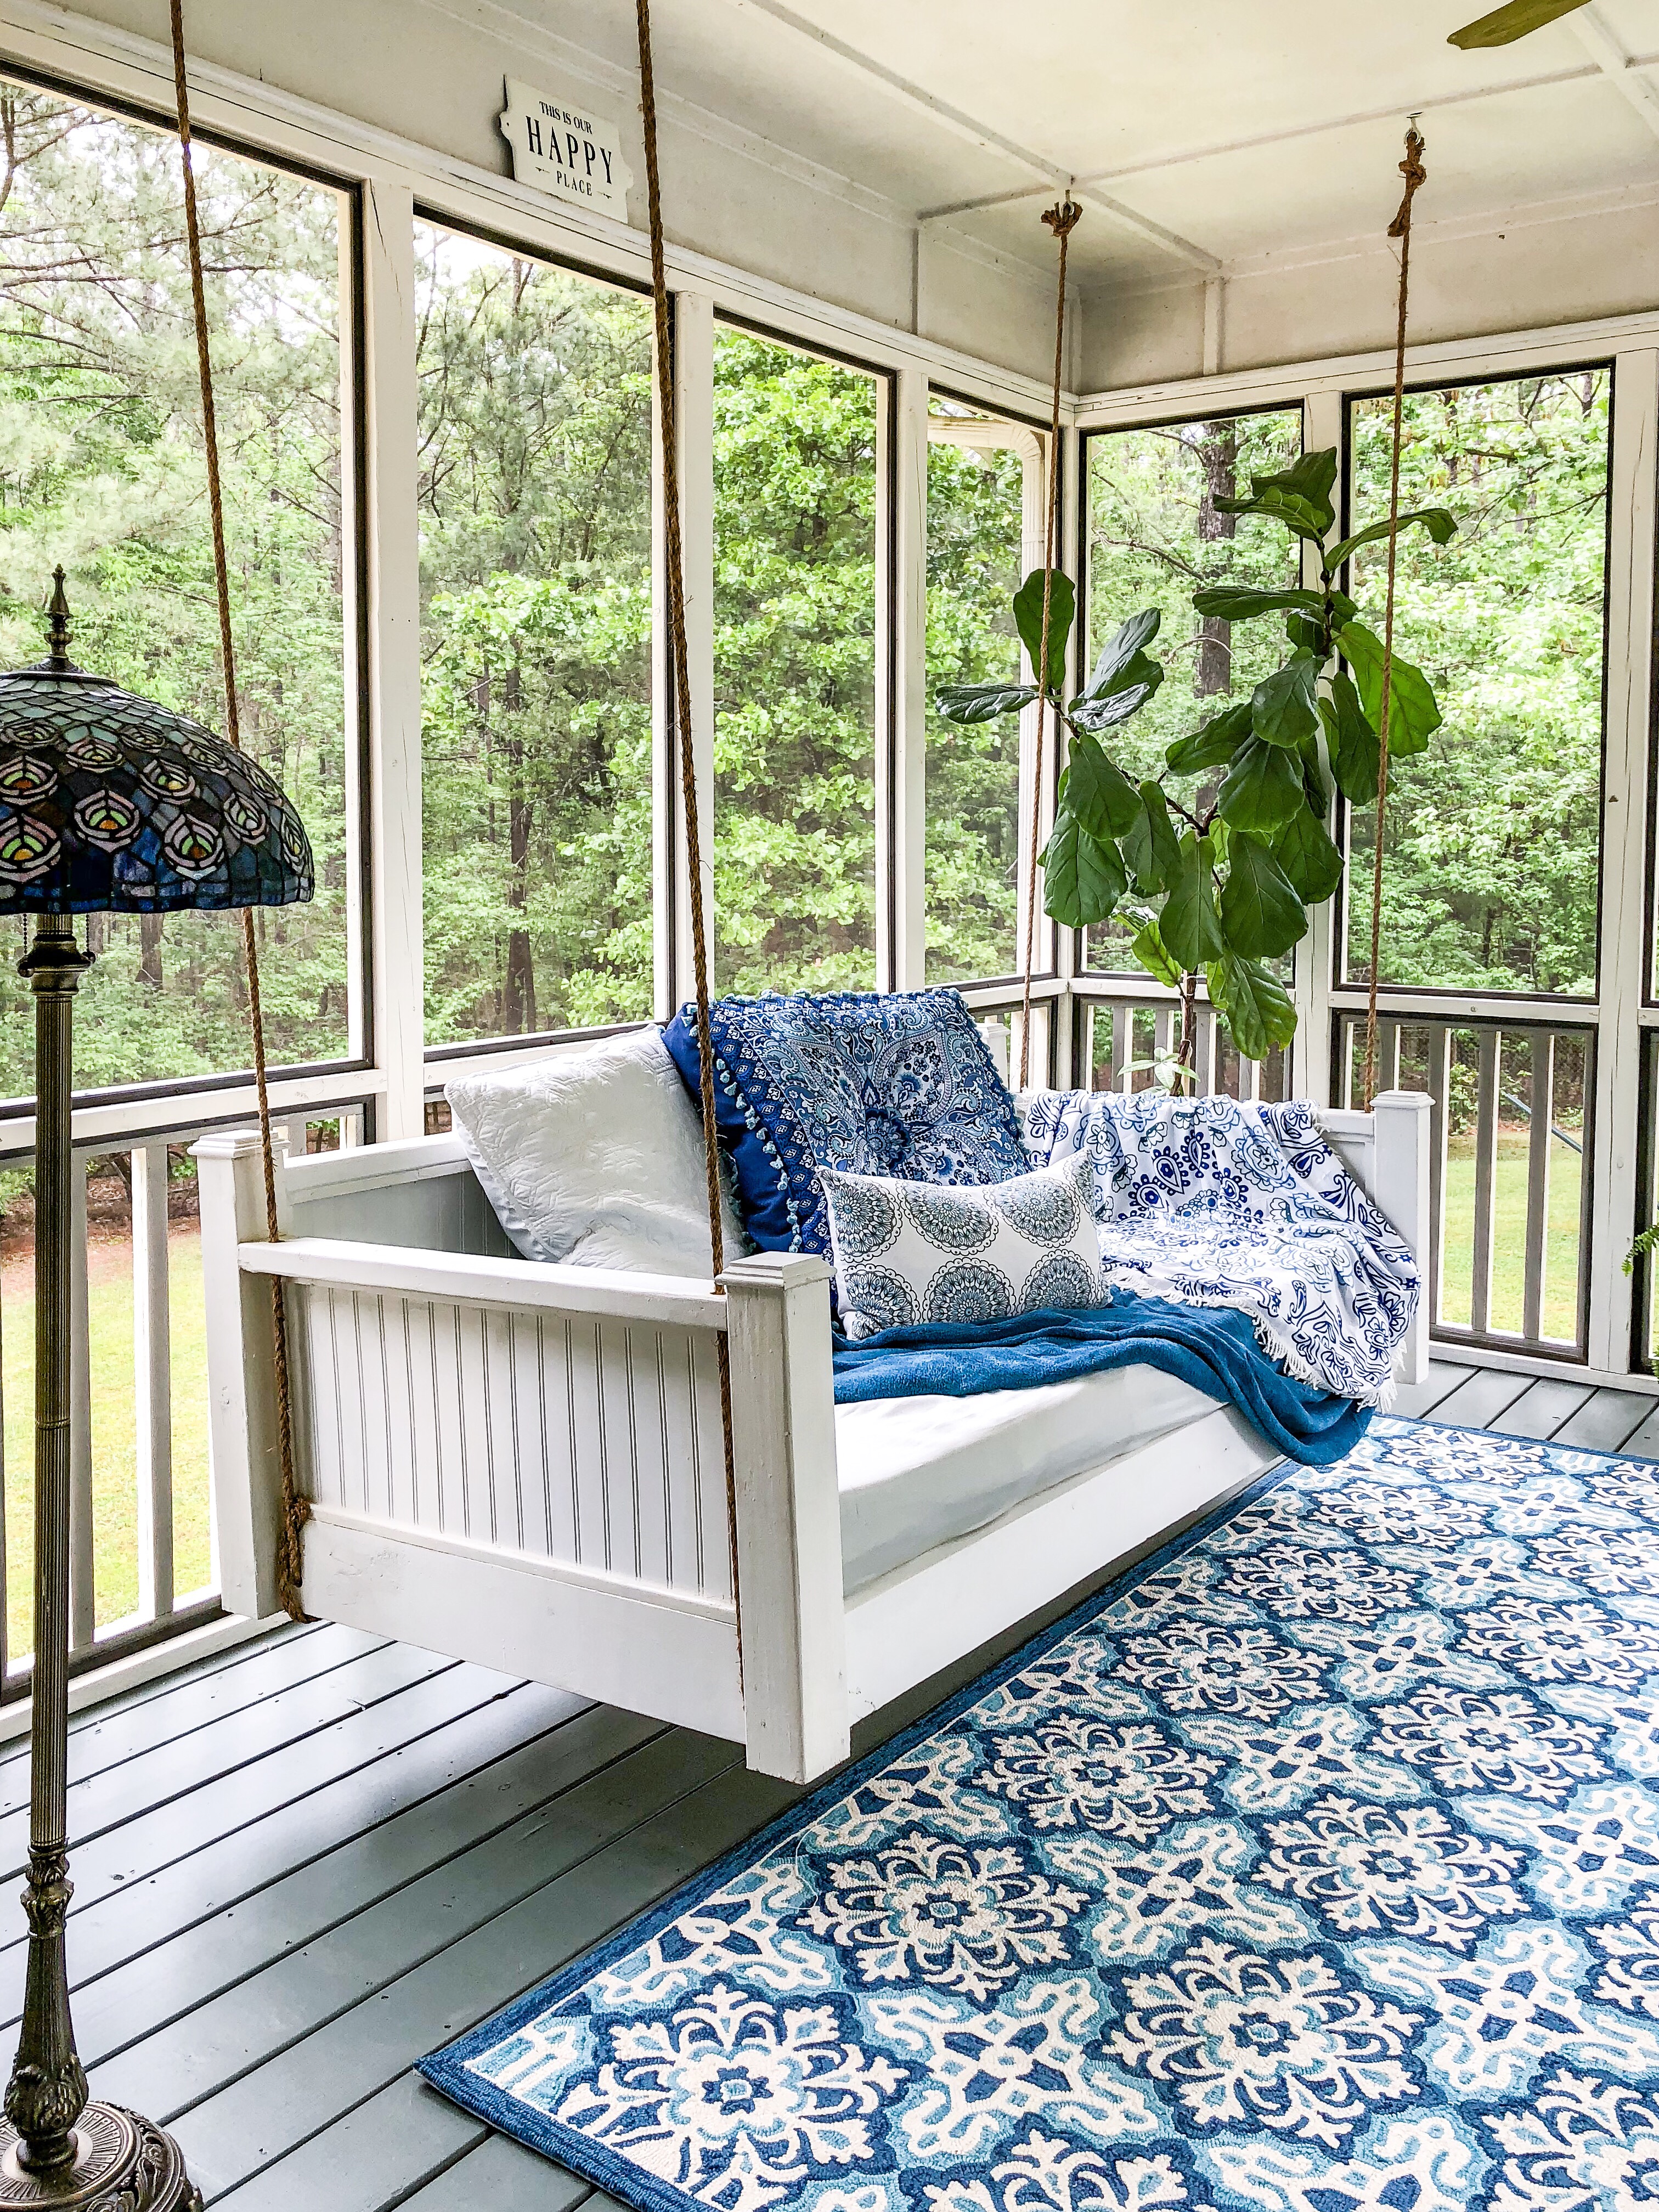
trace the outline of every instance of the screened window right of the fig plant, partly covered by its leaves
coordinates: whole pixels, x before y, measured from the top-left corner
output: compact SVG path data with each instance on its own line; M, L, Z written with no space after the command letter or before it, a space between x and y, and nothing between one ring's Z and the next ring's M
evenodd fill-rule
M1396 646L1444 721L1389 776L1391 984L1595 991L1613 372L1409 392L1400 507L1458 535L1398 542ZM1352 526L1387 515L1387 398L1349 403ZM1383 628L1383 544L1349 591ZM1374 814L1349 830L1347 975L1367 980Z

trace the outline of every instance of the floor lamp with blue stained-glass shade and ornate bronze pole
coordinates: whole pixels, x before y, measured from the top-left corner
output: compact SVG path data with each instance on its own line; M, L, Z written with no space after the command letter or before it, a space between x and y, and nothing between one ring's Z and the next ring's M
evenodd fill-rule
M44 661L0 675L0 914L33 914L35 998L35 1674L29 1980L0 2124L0 2212L190 2212L177 2143L91 2104L64 1969L69 1916L69 1239L71 1031L91 958L77 914L283 907L312 849L272 779L199 723L69 659L64 571Z

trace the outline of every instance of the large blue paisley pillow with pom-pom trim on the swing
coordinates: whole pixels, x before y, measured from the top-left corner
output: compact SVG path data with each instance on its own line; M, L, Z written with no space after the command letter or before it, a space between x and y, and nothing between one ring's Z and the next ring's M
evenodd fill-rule
M818 1168L918 1183L1026 1175L1009 1086L956 991L768 991L710 1009L714 1121L763 1252L830 1259ZM697 1095L697 1013L664 1031Z

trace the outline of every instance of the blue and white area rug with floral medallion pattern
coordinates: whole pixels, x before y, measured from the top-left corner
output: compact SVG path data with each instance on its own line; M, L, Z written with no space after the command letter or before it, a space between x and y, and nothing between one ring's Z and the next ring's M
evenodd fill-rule
M1378 1420L425 2073L648 2212L1659 2205L1659 1469Z

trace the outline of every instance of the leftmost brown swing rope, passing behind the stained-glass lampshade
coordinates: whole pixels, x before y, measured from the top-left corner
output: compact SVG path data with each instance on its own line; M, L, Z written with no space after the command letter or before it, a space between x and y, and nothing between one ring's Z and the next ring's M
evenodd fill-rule
M184 232L190 248L190 303L197 325L197 372L201 378L201 436L208 458L208 513L212 518L212 575L219 595L219 659L226 686L226 737L241 752L237 710L237 646L230 635L230 562L226 557L226 509L219 480L219 425L212 405L212 352L208 347L208 296L201 281L201 223L197 179L190 166L190 91L184 75L184 0L173 4L173 88L179 108L179 168L184 170ZM259 1095L259 1152L265 1170L265 1237L281 1243L276 1221L276 1152L270 1137L270 1084L265 1079L265 1018L259 1002L259 940L252 907L241 909L241 951L248 971L248 1026L254 1046L254 1091ZM303 1531L312 1506L294 1478L294 1400L288 1369L288 1303L283 1279L270 1279L270 1323L276 1340L276 1453L283 1484L283 1524L276 1544L276 1595L290 1619L303 1621L301 1579L305 1571Z

